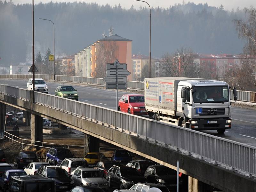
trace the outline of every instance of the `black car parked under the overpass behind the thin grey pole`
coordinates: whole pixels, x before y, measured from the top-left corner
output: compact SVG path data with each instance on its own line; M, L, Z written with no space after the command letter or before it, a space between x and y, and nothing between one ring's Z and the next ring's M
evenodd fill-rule
M182 173L179 174L181 177ZM164 165L151 165L144 173L144 177L150 183L161 183L167 187L177 186L177 171ZM180 178L179 183L182 183Z

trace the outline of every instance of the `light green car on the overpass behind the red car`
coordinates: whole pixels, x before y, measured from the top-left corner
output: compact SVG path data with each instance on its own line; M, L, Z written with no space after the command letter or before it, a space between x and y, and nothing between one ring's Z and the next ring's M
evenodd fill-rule
M78 100L78 93L76 91L77 90L74 89L74 87L72 87L70 85L63 85L63 86L57 87L54 95L68 98L68 99Z

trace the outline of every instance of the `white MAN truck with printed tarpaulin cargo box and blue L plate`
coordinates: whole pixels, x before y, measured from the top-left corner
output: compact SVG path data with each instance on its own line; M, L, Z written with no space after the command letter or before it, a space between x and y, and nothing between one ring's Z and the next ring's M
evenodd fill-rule
M186 78L145 78L145 109L157 121L194 130L231 128L231 102L226 82ZM233 87L236 102L236 88Z

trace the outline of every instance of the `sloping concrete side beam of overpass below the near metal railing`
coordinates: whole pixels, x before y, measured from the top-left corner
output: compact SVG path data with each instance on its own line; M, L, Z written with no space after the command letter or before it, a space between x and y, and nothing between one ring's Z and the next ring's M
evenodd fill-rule
M91 121L47 108L41 105L31 104L24 100L17 100L6 95L0 95L0 101L7 104L33 110L35 115L54 117L58 123L75 128L100 140L112 143L118 147L127 149L140 156L144 156L157 163L176 169L177 160L180 161L180 172L185 173L199 181L219 188L223 191L250 191L256 192L255 180L229 171L214 164L207 163L193 156L184 155L171 148L148 142L142 138L126 134L121 130L112 129Z

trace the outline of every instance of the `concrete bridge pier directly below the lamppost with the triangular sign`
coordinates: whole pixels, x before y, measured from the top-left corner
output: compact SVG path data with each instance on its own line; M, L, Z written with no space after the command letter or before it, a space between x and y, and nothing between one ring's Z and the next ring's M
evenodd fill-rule
M42 146L42 143L35 141L43 141L43 117L31 114L31 144Z

